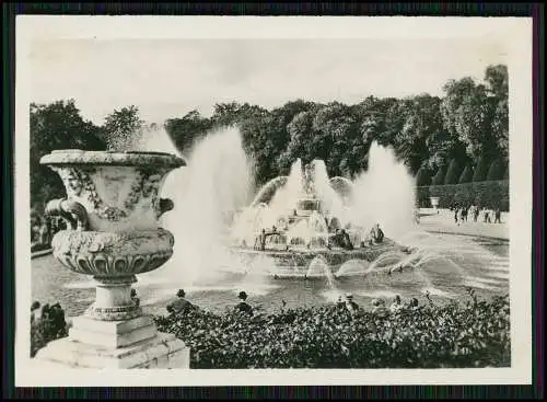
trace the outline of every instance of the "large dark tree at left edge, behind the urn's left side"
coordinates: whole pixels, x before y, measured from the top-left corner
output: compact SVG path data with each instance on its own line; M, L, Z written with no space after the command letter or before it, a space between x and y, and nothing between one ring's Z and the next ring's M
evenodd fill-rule
M43 156L58 149L105 150L101 128L84 120L74 100L31 104L31 205L38 209L65 194L59 176L39 164Z

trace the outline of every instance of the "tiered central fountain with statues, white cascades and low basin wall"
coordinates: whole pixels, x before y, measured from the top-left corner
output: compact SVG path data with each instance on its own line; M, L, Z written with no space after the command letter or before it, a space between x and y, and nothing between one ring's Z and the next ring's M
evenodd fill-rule
M351 192L349 180L328 177L322 160L306 165L296 160L289 176L267 183L235 219L232 252L249 265L267 255L275 278L307 279L330 278L350 261L363 263L363 269L350 271L362 274L368 263L387 252L404 254L404 246L388 238L374 240L371 228L352 221ZM318 261L328 266L328 275L311 269Z

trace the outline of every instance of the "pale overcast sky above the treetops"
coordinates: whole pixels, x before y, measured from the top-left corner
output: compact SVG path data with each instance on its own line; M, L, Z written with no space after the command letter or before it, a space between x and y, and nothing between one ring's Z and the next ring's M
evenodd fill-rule
M368 95L442 94L451 78L484 77L505 49L443 39L55 39L33 42L32 100L74 99L101 124L135 104L161 123L219 102L267 108L305 99L358 103Z

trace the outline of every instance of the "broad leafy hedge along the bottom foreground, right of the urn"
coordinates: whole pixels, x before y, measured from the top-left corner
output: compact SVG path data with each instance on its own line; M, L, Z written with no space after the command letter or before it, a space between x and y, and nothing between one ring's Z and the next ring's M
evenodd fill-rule
M405 307L387 317L323 306L253 318L158 317L190 348L191 368L458 368L510 365L508 297Z

